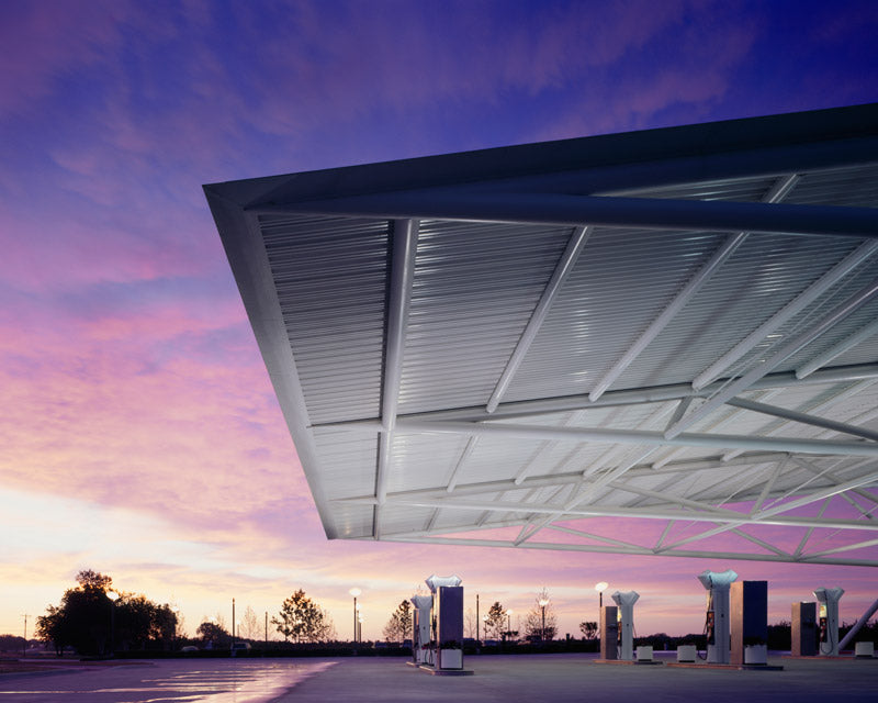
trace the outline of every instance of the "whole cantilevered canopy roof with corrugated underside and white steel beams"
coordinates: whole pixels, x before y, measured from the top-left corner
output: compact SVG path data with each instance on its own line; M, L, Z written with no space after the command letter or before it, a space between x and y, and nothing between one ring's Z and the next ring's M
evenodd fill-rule
M878 104L205 192L329 538L878 566Z

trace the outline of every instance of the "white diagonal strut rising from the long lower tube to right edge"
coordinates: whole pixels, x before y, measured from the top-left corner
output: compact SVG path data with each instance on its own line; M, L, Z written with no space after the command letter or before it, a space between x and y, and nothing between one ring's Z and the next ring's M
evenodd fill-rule
M673 438L679 433L684 432L687 427L691 427L695 423L703 420L720 405L723 405L727 401L734 398L742 391L750 389L755 381L779 366L784 360L809 345L811 342L817 339L836 323L844 320L855 310L868 303L876 295L878 295L878 279L870 281L843 303L836 305L813 327L793 337L787 344L781 345L780 349L772 355L770 360L752 368L750 371L744 373L744 376L729 383L723 390L718 391L703 405L691 412L687 417L680 420L676 425L665 432L665 436L668 439Z

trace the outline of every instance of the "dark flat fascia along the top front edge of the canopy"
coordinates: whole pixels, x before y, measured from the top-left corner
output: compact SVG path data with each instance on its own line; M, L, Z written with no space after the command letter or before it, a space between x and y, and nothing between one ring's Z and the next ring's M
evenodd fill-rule
M539 142L205 186L241 207L513 180L873 137L878 103ZM825 149L824 149L825 152ZM825 159L825 156L823 157ZM614 183L612 187L623 187Z

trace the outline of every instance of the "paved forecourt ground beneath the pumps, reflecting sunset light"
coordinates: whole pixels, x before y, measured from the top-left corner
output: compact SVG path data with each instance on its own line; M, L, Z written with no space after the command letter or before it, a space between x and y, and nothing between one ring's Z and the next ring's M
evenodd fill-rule
M669 654L669 652L668 652ZM614 667L588 655L468 657L471 677L435 677L405 659L172 660L104 670L0 677L0 703L412 703L465 701L868 701L878 659L780 659L783 671Z

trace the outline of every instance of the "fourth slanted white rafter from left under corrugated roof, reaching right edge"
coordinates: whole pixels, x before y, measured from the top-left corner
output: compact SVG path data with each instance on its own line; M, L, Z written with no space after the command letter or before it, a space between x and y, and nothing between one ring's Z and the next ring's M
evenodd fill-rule
M787 303L769 320L766 320L708 368L701 371L701 373L696 376L695 380L693 380L693 388L700 390L717 379L732 364L765 339L766 336L811 305L820 295L825 293L876 252L878 252L878 242L866 242L856 250L848 254L842 261L833 266L796 299Z

